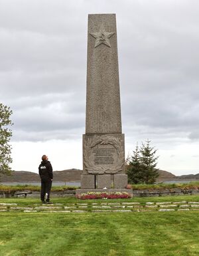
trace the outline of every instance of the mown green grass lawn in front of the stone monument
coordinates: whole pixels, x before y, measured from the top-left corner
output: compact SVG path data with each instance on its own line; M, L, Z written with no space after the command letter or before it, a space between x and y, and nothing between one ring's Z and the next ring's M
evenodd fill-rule
M117 200L109 200L113 201ZM198 196L122 201L199 201ZM81 202L75 198L55 203ZM83 200L82 200L83 201ZM99 200L84 200L83 202ZM101 200L104 201L104 200ZM106 200L107 201L107 200ZM39 199L0 199L32 205ZM199 255L199 211L132 213L0 213L0 255L193 256Z

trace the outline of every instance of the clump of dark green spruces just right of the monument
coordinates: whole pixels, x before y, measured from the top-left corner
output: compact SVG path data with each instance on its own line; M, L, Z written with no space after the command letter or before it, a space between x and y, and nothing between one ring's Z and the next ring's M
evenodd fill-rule
M136 146L127 169L128 182L131 184L153 184L159 177L157 150L150 146L149 140L142 144L141 148Z

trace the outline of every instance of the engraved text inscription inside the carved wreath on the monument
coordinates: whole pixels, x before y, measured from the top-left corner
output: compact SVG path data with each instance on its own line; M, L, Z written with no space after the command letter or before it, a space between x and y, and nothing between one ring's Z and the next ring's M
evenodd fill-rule
M94 148L94 164L114 164L115 148Z

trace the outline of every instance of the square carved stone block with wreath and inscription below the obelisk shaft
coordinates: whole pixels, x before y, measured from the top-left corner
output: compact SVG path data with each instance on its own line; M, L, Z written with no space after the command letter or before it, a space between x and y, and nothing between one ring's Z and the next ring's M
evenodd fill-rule
M84 135L84 174L117 174L123 172L123 134Z

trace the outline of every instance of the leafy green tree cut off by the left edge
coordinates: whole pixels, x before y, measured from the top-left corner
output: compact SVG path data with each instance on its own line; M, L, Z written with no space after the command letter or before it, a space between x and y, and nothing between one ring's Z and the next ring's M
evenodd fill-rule
M9 141L12 136L12 132L7 127L12 125L10 120L11 114L12 110L0 103L0 174L11 173L9 164L11 164L12 158Z

